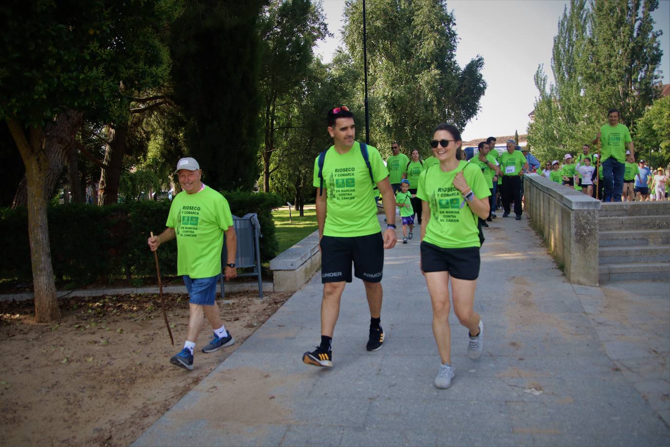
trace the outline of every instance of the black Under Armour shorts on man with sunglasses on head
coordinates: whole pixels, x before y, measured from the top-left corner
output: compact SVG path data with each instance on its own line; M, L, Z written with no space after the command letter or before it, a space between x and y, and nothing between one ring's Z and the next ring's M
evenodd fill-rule
M384 238L381 232L367 236L321 238L321 282L351 282L354 276L377 283L384 269Z

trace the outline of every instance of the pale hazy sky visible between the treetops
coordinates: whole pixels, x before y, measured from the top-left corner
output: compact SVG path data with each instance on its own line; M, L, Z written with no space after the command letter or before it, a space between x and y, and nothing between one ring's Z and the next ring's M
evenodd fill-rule
M480 54L484 57L482 74L488 84L481 99L482 109L466 125L465 140L488 135L512 135L515 130L526 133L528 113L533 110L537 88L533 75L539 64L551 74L551 48L563 0L448 0L447 6L456 16L460 42L456 50L458 63L464 66ZM344 0L324 0L324 13L329 31L334 35L318 42L316 52L330 62L342 44ZM661 29L663 83L670 82L670 0L659 1L654 11L655 29ZM372 112L374 113L374 111Z

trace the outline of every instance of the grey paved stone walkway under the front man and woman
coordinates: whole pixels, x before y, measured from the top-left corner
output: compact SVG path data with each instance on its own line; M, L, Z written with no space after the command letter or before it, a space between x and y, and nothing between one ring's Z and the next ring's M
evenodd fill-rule
M316 275L135 445L669 445L668 283L571 285L526 216L494 220L486 237L484 354L468 359L452 312L450 389L433 387L440 359L414 239L386 252L381 350L365 350L354 281L334 367L302 363L320 340Z

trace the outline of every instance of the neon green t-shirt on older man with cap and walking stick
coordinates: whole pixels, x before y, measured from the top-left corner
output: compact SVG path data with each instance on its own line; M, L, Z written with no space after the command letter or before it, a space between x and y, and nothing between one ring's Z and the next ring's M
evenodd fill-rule
M223 232L232 227L228 200L205 186L172 200L165 225L177 235L177 274L208 278L221 273Z

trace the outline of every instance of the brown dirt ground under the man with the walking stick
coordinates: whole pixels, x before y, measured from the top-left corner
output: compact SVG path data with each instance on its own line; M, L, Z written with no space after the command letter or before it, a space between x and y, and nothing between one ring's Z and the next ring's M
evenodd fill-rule
M194 371L170 365L188 327L188 296L166 294L170 344L157 295L62 300L60 324L34 322L34 303L0 303L0 445L127 446L208 375L289 298L226 294L218 301L235 344Z

